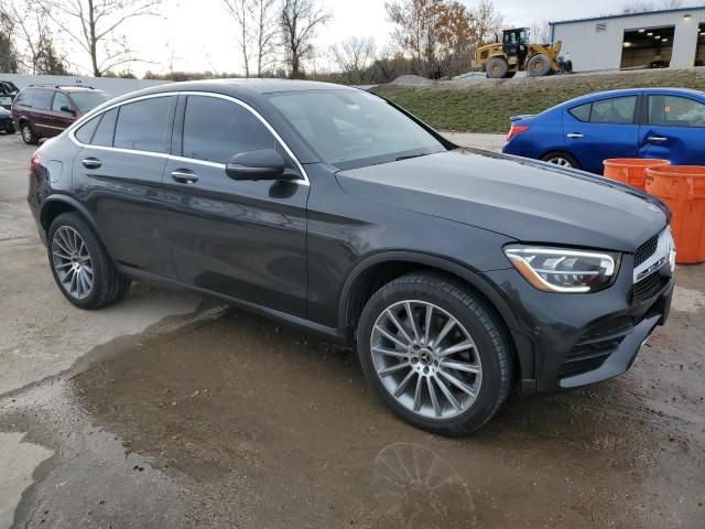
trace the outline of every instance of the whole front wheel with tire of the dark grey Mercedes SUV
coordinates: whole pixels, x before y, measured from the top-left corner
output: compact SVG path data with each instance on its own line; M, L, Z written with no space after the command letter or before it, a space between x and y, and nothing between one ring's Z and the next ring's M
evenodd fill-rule
M403 276L372 295L357 332L362 370L405 422L458 435L481 428L507 399L512 357L482 300L442 276Z

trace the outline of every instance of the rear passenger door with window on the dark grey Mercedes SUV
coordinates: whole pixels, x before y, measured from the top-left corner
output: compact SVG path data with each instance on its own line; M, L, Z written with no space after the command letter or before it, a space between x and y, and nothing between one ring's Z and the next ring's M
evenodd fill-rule
M82 126L75 137L89 144L74 161L73 183L113 259L170 279L176 274L162 176L175 104L176 96L149 97L104 112L97 127Z

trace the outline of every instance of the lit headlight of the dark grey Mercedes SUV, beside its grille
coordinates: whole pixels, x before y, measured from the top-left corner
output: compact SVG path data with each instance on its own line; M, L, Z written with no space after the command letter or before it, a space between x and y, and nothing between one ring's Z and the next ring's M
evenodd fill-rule
M593 251L507 246L505 253L534 288L544 292L586 293L609 285L619 256Z

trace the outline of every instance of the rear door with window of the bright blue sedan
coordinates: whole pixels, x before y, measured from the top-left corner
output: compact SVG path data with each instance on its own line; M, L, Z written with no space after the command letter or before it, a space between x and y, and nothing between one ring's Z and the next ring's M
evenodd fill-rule
M609 158L634 158L639 142L639 94L607 97L567 108L566 149L585 171L603 174Z

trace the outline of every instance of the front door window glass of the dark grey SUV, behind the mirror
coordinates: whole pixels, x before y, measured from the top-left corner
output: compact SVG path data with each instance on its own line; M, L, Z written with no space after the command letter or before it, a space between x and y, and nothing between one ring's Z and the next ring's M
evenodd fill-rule
M215 97L188 96L184 156L225 163L241 152L275 148L272 133L240 105Z

